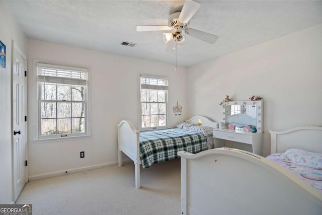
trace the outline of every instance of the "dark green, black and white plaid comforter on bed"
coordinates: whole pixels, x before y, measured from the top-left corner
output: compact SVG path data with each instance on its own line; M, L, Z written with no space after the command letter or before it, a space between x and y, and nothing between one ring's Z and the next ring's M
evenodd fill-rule
M181 128L140 132L140 158L143 168L178 158L177 152L198 153L207 149L206 137Z

